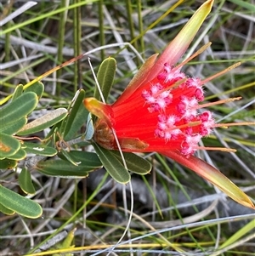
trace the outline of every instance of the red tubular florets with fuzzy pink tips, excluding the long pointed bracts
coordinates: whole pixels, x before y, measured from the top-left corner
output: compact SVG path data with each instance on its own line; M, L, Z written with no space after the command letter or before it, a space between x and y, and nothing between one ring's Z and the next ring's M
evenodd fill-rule
M122 104L116 100L111 105L111 113L106 114L109 122L99 119L94 138L106 148L117 149L113 128L125 151L173 150L190 156L214 126L210 111L199 112L201 100L201 80L186 77L180 68L165 63L154 79L145 80ZM109 141L101 139L103 128Z

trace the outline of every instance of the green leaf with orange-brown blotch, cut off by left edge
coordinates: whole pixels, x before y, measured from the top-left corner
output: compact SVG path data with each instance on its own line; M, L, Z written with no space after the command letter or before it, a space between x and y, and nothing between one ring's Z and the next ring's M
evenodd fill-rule
M20 141L8 134L0 134L0 158L13 156L20 149Z

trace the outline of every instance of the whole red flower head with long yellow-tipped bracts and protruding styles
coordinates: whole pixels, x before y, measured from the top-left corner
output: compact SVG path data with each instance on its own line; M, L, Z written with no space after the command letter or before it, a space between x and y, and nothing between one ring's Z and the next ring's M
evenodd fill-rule
M122 151L160 152L217 185L235 201L254 208L248 196L229 179L193 156L198 149L207 149L198 145L200 139L210 134L212 128L220 126L215 124L211 111L201 110L212 103L200 104L204 100L202 85L212 77L201 81L187 77L181 71L181 67L204 48L189 60L175 64L209 14L212 2L207 1L195 12L158 60L155 54L145 61L114 104L106 105L88 98L84 100L84 105L99 117L94 133L94 140L99 145L109 150L118 150L119 144ZM228 125L233 124L224 124Z

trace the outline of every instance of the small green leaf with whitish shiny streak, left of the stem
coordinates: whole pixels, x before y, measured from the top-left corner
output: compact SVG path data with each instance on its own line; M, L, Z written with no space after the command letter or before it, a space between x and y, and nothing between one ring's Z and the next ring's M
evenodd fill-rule
M58 151L51 146L31 142L24 142L21 147L27 152L37 156L55 156Z

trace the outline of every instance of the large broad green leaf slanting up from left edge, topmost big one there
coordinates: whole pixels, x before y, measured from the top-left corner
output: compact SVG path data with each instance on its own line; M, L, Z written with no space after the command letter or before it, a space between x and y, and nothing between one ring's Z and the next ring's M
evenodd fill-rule
M35 93L29 92L20 95L20 97L0 109L1 126L4 124L4 129L12 127L13 122L18 122L31 113L37 106L37 102L37 94Z

